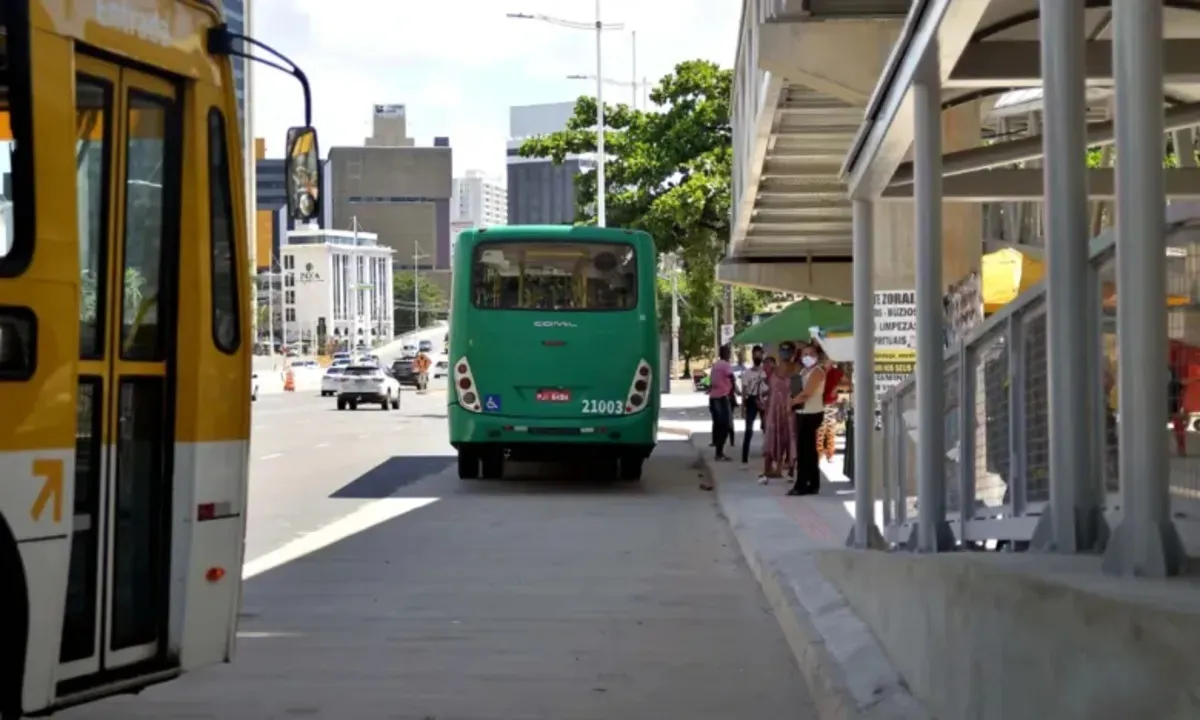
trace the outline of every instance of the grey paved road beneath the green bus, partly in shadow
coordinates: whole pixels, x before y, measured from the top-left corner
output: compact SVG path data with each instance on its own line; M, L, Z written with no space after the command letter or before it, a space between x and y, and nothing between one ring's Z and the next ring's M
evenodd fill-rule
M686 443L461 482L444 402L259 401L236 661L61 718L816 716Z

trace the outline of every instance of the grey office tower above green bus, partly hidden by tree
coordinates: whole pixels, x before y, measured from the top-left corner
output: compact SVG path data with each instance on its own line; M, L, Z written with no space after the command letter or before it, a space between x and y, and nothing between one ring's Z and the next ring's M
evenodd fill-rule
M575 102L509 108L509 224L570 224L575 222L575 176L594 167L592 158L569 155L562 164L521 157L522 143L566 128Z

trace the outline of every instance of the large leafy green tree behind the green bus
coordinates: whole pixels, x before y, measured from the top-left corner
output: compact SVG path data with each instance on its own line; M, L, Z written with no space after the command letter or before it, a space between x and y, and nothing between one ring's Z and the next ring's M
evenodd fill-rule
M606 224L646 230L660 254L678 254L684 270L679 281L684 358L713 349L713 312L721 301L716 264L730 241L732 90L733 71L689 60L650 92L656 109L605 106ZM571 155L594 154L595 115L595 98L580 97L566 130L526 140L521 155L562 163ZM595 222L596 173L581 173L575 186L576 221ZM659 292L661 323L668 330L670 283L660 283ZM736 296L761 307L769 294L740 289ZM740 325L744 319L736 322Z

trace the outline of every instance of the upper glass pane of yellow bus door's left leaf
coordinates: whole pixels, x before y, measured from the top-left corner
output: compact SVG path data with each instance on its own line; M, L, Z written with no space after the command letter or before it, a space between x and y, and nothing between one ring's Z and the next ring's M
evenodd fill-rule
M104 354L108 126L112 86L76 80L76 193L79 221L79 356Z

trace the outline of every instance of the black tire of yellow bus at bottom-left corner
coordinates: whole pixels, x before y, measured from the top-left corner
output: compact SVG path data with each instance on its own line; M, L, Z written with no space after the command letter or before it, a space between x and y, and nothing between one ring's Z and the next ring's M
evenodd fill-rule
M29 590L17 538L0 516L0 719L22 716L25 646L29 642Z

